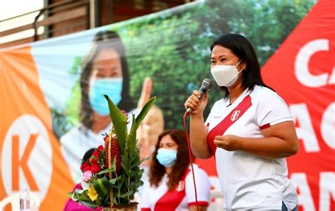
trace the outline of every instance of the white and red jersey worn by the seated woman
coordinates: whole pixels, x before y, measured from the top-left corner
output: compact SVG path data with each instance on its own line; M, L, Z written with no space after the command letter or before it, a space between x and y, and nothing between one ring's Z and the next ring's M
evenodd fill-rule
M208 206L211 190L208 175L196 164L193 164L193 168L198 205ZM141 194L141 211L182 211L189 210L189 206L192 205L196 205L196 200L191 168L187 169L184 178L175 190L168 191L167 174L163 176L157 188L150 186L148 181L144 182Z

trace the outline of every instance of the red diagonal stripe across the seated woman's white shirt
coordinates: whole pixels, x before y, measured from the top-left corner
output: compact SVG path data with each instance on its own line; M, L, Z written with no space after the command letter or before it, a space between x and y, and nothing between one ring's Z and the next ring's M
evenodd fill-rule
M180 181L185 181L187 174L189 174L189 169L186 169L184 176ZM155 211L161 210L176 210L177 207L182 203L186 195L185 189L183 191L177 191L176 189L167 191L156 203Z

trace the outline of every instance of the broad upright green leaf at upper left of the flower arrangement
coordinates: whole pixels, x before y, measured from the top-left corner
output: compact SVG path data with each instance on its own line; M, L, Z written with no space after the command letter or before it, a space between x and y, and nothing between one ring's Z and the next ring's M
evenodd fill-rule
M124 141L127 137L127 116L120 111L117 106L110 100L110 97L104 95L108 101L108 107L110 108L110 119L112 119L115 133L117 134L117 142L121 152L124 150Z

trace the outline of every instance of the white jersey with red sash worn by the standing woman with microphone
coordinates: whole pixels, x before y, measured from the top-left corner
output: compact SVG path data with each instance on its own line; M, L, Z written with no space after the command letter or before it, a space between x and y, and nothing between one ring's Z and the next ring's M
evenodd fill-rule
M286 159L257 157L240 150L216 148L216 135L264 138L261 130L283 121L293 121L286 102L269 88L245 90L233 104L218 100L211 109L207 141L216 157L216 169L226 210L281 210L298 204L295 188L288 179ZM285 131L283 131L285 133Z

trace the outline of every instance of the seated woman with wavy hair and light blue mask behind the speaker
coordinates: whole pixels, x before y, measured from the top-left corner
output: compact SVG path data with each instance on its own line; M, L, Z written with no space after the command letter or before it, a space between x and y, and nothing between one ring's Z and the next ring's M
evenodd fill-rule
M192 157L194 159L194 157ZM194 165L194 182L184 132L170 130L161 133L155 145L149 179L141 194L141 211L206 210L210 201L211 184L203 169Z

